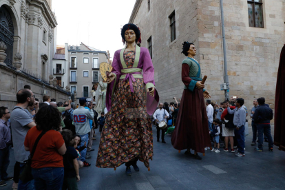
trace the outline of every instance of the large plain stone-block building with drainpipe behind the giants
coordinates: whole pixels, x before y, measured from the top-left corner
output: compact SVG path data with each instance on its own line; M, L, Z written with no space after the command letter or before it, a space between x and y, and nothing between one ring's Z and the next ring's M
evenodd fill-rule
M253 98L264 96L274 108L279 54L285 41L284 0L262 0L263 28L251 25L246 0L224 0L226 58L229 94L245 99L252 107ZM175 39L171 39L171 23L175 15ZM140 27L142 46L149 47L156 71L156 87L160 100L181 97L183 41L194 42L202 76L207 75L206 89L214 103L224 101L224 59L220 0L137 0L129 19ZM259 21L260 22L260 21ZM250 26L251 25L251 26Z

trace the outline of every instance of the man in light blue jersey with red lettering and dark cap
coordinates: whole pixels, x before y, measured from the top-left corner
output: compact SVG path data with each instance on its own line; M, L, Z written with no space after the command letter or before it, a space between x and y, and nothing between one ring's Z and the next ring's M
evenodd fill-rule
M74 125L75 125L75 131L76 134L78 134L81 137L81 147L85 143L88 142L88 133L90 130L89 120L93 120L94 118L94 112L92 110L92 105L89 105L89 110L85 109L86 106L86 98L80 98L79 104L80 106L78 109L74 110L73 116L74 116ZM89 167L90 164L86 162L86 151L87 149L83 149L81 151L81 161L84 163L85 167Z

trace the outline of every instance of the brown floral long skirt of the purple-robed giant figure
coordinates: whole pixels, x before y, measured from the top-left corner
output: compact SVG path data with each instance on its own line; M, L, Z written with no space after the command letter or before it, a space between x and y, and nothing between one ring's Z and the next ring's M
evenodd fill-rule
M119 80L101 132L96 167L119 167L138 157L149 167L153 137L151 118L147 114L143 79L136 78L131 92L129 80Z

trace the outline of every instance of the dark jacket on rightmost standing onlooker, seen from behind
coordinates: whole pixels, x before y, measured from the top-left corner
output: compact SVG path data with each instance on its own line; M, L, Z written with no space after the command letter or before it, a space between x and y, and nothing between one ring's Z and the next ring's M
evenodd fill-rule
M270 123L270 120L273 119L273 111L266 105L260 105L255 109L253 119L255 123Z

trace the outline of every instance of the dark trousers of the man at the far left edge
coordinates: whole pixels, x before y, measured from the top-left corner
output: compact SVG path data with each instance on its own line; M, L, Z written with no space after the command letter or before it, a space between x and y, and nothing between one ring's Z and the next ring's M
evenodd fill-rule
M10 163L9 156L10 148L8 145L5 148L0 149L0 180L5 180L8 178L7 169Z

